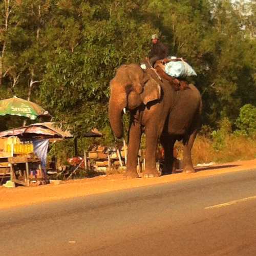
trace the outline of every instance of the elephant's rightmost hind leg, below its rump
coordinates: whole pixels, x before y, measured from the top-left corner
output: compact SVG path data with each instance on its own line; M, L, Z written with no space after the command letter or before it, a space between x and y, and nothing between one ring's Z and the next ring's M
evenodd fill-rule
M196 170L193 166L191 158L191 149L197 136L197 131L190 134L186 140L183 141L183 173L195 173Z

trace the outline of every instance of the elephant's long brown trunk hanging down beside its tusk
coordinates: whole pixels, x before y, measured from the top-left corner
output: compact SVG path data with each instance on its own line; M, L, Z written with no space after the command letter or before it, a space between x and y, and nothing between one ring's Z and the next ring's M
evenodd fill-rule
M125 92L120 93L120 89L118 93L116 93L111 87L111 96L109 103L109 118L110 125L114 135L120 139L123 137L123 123L122 123L122 115L123 109L126 107L126 94Z

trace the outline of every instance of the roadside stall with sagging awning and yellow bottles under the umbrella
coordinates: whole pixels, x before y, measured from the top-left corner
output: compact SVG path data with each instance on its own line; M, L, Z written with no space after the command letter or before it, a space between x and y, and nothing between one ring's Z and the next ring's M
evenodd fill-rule
M62 131L52 122L34 123L0 132L0 140L5 140L2 154L7 156L11 181L25 186L47 183L49 141L72 137L70 132Z

